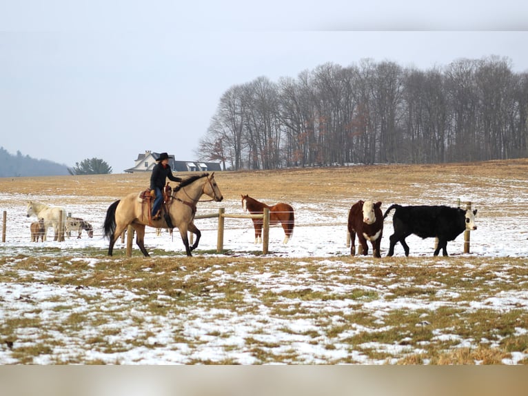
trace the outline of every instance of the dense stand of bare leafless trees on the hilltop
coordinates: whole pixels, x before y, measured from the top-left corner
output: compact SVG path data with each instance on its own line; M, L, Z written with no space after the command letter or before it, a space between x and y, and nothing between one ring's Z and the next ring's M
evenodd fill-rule
M196 154L233 170L527 157L528 72L491 56L258 77L221 96Z

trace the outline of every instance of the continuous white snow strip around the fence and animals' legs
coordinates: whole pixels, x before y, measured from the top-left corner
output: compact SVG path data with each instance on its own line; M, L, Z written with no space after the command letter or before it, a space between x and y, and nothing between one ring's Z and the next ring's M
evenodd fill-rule
M494 192L489 192L491 197ZM495 195L493 201L483 199L473 203L473 208L478 210L476 224L478 230L471 232L471 254L494 257L525 257L528 256L528 197L516 196L506 201L505 198ZM30 242L29 226L35 217L26 217L25 195L2 195L3 203L0 210L7 212L6 243L2 244L2 255L14 255L32 251L35 246ZM46 204L57 204L72 201L72 197L39 197L33 195L32 199L45 202ZM266 199L262 199L267 201ZM68 213L74 217L81 217L92 224L94 238L88 239L83 232L81 239L75 237L67 238L63 243L53 242L52 231L48 232L48 241L43 246L54 246L61 248L68 254L68 248L108 248L108 239L103 238L102 226L106 209L114 199L101 199L87 197L85 201L80 197L73 199L76 204L63 204ZM457 199L445 197L438 199L431 195L429 200L422 199L416 204L447 204L456 206ZM464 202L465 199L462 199ZM8 204L4 204L8 202ZM398 201L403 204L403 202ZM279 257L328 257L349 253L346 246L347 241L347 216L348 210L354 201L332 201L332 203L306 203L290 201L295 210L294 237L288 244L282 244L284 232L280 226L272 226L270 229L270 253ZM382 211L392 203L383 203ZM240 200L226 200L221 203L203 202L199 204L197 215L217 213L219 208L225 208L226 213L243 214ZM461 207L465 207L463 204ZM515 210L515 207L519 208ZM514 213L512 215L512 212ZM394 213L394 212L392 212ZM385 219L383 239L381 242L382 256L389 248L389 235L392 234L392 214ZM217 219L196 219L196 226L201 230L202 237L199 250L216 249ZM167 232L156 236L153 228L146 229L145 246L147 248L161 248L167 253L181 252L185 248L179 236L174 232L171 237ZM463 234L455 241L447 244L449 255L463 253ZM356 240L357 243L357 240ZM407 238L411 256L431 255L434 250L434 239L421 239L415 235ZM116 248L120 248L120 243ZM226 250L255 251L261 247L254 244L254 230L250 219L225 219L224 248ZM29 249L29 250L28 250ZM134 244L134 249L137 247ZM372 246L369 244L369 249ZM403 255L403 248L396 245L395 255Z

